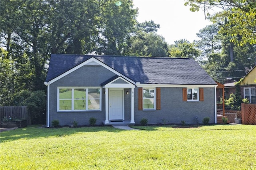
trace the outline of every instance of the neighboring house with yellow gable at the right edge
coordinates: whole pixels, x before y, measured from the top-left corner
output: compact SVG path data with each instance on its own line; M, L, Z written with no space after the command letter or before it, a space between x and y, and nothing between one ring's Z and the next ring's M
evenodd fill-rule
M240 80L239 85L241 87L242 98L247 98L250 103L256 104L256 65L246 73L246 75Z

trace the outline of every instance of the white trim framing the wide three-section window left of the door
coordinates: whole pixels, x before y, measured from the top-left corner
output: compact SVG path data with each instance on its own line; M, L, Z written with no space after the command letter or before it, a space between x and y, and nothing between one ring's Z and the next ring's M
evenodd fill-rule
M71 110L60 110L60 89L72 89L72 99L71 99ZM88 110L88 99L86 99L86 109L84 110L74 110L74 89L86 89L86 97L88 97L88 89L100 89L100 109ZM58 87L57 88L57 111L58 112L80 112L80 111L101 111L102 102L102 88L101 87Z

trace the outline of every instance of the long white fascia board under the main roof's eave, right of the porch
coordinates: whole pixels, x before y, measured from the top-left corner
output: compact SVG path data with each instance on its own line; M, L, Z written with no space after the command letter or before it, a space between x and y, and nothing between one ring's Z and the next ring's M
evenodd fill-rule
M137 87L186 87L186 88L197 88L197 87L217 87L217 85L167 85L167 84L136 84Z

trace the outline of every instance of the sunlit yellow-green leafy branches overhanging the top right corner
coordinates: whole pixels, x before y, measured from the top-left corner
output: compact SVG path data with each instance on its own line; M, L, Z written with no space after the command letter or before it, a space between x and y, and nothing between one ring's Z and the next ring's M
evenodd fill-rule
M212 22L221 26L220 33L231 36L231 42L244 45L256 44L256 2L254 0L186 0L191 11L202 8L205 12L212 8L223 9L213 16Z

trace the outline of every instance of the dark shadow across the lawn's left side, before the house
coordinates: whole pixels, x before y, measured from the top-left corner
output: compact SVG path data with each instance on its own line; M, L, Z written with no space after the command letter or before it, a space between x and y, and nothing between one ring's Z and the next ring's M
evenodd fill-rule
M1 132L0 142L7 142L10 140L32 139L32 138L49 138L49 137L63 137L80 132L121 132L122 129L114 127L58 127L58 128L43 128L39 125L31 125L25 128L18 128Z

